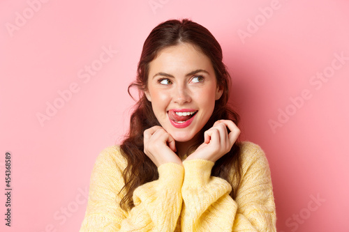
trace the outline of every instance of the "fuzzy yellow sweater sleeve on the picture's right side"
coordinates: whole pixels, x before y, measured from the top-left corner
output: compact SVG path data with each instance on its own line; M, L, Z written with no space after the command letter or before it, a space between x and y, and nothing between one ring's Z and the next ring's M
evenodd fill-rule
M242 145L242 180L235 201L231 185L211 176L214 162L184 161L181 231L276 231L272 180L259 146Z

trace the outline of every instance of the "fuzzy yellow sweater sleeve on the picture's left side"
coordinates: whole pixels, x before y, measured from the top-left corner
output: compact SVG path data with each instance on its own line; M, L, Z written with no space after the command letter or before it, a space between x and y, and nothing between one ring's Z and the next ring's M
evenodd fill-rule
M135 207L125 211L119 206L124 196L119 192L124 187L121 173L125 167L126 160L116 146L98 155L80 232L174 231L181 212L184 168L174 163L158 167L158 180L135 189Z

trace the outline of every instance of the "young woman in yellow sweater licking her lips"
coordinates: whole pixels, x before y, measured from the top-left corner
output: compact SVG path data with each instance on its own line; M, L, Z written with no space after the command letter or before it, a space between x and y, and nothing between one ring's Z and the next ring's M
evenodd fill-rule
M222 58L191 20L151 31L130 130L96 160L80 231L276 231L267 158L237 140Z

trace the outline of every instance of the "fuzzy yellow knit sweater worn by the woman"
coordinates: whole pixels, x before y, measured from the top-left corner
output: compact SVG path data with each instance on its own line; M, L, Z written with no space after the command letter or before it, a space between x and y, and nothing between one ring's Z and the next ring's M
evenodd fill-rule
M98 155L80 232L89 231L276 231L269 165L262 149L242 143L242 182L232 186L211 176L214 162L188 160L158 167L159 178L133 193L135 207L120 208L126 160L118 146Z

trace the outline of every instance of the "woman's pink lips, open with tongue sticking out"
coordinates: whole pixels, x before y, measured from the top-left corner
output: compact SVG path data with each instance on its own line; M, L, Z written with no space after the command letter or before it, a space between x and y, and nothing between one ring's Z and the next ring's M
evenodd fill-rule
M184 128L191 125L196 112L195 109L170 109L168 111L168 118L174 127Z

